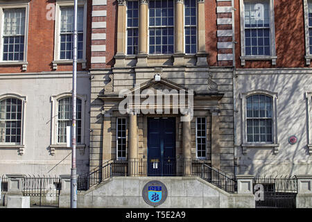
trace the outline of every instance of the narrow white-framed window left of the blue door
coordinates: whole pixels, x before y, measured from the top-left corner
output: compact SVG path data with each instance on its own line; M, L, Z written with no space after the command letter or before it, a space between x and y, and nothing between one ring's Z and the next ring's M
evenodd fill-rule
M127 124L125 118L117 118L117 158L124 159L127 155L127 139L126 139Z

